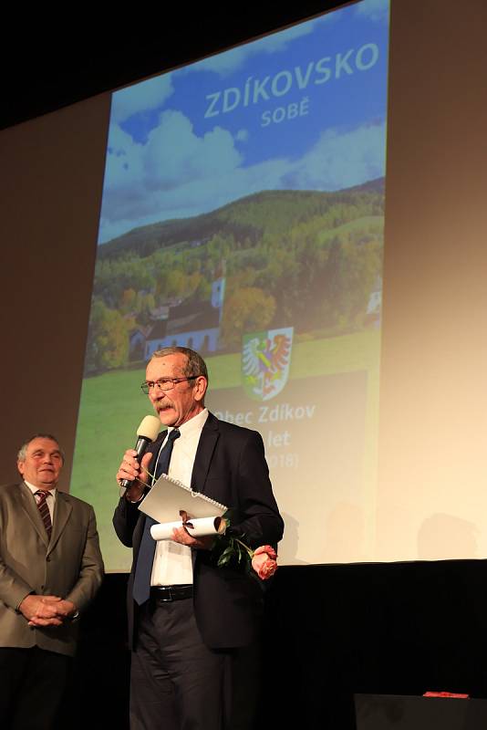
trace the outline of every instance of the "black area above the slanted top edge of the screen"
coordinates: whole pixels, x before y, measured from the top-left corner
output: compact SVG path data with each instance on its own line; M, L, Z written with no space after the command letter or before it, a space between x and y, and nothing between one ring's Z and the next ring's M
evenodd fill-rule
M352 0L353 1L353 0ZM5 44L0 129L125 86L219 50L324 13L348 0L274 5L171 3L109 18L77 16L69 27L18 18L16 55ZM16 8L10 8L16 14ZM23 13L19 9L18 14ZM6 26L6 24L5 24ZM34 27L35 26L35 27ZM30 31L30 32L29 32ZM20 34L19 34L20 35Z

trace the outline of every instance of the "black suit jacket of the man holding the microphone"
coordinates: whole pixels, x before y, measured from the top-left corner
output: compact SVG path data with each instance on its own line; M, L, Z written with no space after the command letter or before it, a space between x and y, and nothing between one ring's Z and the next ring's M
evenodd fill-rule
M158 454L165 433L152 445ZM149 469L153 462L150 464ZM279 515L259 433L208 414L192 469L192 489L233 509L233 534L243 536L249 547L275 545L283 537ZM129 638L132 641L137 605L132 600L134 568L145 517L137 505L122 497L113 524L121 542L133 547L129 580ZM193 550L194 613L207 646L245 646L256 638L263 610L259 582L244 573L215 568L205 550Z

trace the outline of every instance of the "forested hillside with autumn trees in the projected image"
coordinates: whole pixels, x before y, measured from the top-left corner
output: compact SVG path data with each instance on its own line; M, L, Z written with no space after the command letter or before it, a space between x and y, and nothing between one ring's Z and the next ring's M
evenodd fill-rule
M336 193L256 193L120 236L99 250L87 372L126 365L134 329L171 307L207 308L222 277L219 351L266 328L317 339L375 327L383 227L377 180Z

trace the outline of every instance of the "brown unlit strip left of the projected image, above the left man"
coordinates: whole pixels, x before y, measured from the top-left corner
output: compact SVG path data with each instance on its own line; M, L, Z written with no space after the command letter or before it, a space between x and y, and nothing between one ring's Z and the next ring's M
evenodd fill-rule
M109 96L0 133L0 484L33 433L64 446L67 487L97 250Z

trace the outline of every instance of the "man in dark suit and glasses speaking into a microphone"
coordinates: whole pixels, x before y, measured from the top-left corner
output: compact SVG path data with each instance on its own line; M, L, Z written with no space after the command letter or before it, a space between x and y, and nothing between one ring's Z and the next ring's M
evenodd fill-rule
M148 537L149 518L138 507L148 490L144 474L162 470L232 508L229 532L249 547L275 545L284 525L264 444L258 433L207 411L208 373L193 350L159 350L146 379L142 389L168 431L141 465L135 451L126 451L117 478L132 485L114 516L120 540L134 551L131 727L251 728L262 586L244 571L217 568L212 537L197 539L181 527L156 547Z

